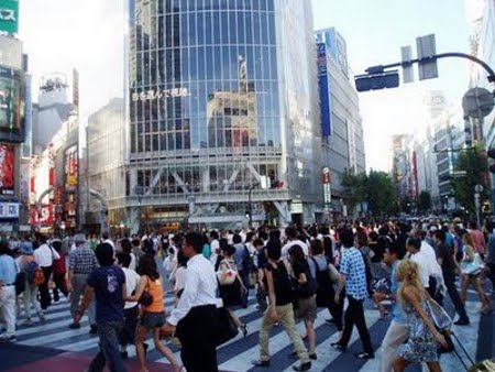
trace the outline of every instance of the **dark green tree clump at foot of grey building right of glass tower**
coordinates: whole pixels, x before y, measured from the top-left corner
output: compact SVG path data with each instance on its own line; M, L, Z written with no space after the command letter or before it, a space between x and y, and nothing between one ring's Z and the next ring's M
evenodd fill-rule
M397 196L392 177L385 172L371 171L369 175L353 175L345 172L342 176L342 187L348 196L352 210L363 201L369 203L369 210L374 216L395 214Z

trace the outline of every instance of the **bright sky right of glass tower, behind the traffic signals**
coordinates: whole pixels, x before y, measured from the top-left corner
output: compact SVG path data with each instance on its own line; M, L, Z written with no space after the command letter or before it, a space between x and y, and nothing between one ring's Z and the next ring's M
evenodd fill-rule
M348 44L354 74L369 66L400 61L400 46L435 33L437 53L469 52L470 25L464 0L312 0L315 28L336 26ZM440 77L398 89L360 94L367 167L391 168L391 136L421 132L427 124L424 97L430 89L446 91L453 107L469 84L469 64L462 59L439 62Z

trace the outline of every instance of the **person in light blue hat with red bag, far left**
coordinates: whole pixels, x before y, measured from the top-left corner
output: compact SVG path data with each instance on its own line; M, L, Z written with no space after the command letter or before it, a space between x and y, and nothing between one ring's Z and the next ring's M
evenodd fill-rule
M40 291L40 285L45 282L43 271L37 265L33 255L33 244L29 241L21 242L21 256L16 259L18 266L21 273L25 275L25 287L23 292L23 305L25 321L24 326L31 326L31 306L33 306L40 321L45 321L45 315L37 300L37 293Z

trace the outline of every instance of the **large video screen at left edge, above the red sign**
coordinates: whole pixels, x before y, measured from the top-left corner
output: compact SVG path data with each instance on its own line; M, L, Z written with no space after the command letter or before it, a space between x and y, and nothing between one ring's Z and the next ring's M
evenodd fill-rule
M0 66L0 140L24 141L22 72Z

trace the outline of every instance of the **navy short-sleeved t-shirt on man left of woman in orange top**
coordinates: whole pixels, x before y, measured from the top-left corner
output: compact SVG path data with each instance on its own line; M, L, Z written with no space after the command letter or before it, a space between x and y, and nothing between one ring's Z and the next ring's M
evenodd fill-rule
M118 266L95 269L88 276L88 285L95 289L96 320L98 322L122 320L124 311L122 286L125 285L122 269Z

